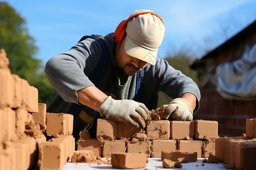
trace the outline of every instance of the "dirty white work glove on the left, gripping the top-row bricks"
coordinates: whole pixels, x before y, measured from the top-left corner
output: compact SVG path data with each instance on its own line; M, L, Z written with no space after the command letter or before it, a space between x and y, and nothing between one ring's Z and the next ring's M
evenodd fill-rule
M114 100L111 96L101 104L100 114L110 120L122 121L134 128L145 128L148 109L134 100Z

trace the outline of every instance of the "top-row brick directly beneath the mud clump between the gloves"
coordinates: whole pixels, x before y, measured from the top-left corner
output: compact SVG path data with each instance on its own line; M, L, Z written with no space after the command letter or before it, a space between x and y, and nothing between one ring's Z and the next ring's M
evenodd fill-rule
M147 126L147 138L149 140L170 139L170 121L149 121Z

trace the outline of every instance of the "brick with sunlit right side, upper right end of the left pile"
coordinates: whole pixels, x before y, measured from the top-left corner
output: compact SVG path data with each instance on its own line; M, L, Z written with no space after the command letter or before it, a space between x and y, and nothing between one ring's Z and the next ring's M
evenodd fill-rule
M72 122L71 122L72 120ZM64 113L46 113L46 134L71 135L73 131L73 115Z

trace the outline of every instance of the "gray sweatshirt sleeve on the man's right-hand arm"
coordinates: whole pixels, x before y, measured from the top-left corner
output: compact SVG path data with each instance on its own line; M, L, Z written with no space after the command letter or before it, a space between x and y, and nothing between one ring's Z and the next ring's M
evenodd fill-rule
M157 59L155 78L158 79L158 91L163 91L173 99L181 97L184 93L195 95L197 101L194 113L199 109L201 95L197 84L181 71L175 70L166 60Z

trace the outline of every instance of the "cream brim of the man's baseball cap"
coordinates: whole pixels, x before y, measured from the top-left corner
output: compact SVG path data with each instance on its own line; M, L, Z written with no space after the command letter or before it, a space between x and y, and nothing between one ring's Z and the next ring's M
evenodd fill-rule
M155 65L156 56L158 55L158 50L152 51L143 48L131 40L129 36L126 36L125 40L125 52L129 56L141 59L142 61L150 63L151 65Z

